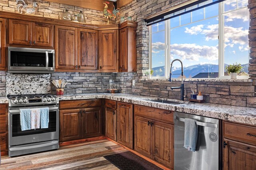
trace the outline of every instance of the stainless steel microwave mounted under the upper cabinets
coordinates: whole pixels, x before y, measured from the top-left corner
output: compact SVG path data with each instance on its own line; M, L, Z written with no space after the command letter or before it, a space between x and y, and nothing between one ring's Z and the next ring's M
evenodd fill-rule
M55 68L54 58L52 49L8 47L8 72L52 73Z

